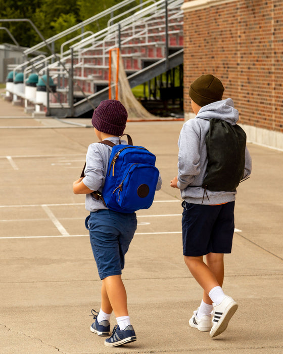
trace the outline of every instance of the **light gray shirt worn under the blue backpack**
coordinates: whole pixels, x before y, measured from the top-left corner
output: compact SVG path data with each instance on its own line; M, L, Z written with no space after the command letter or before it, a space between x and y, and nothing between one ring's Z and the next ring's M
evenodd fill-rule
M115 145L119 144L119 137L110 137L106 140L111 141ZM122 144L126 144L124 140ZM105 183L105 176L108 169L108 162L112 148L105 144L93 143L88 146L86 153L86 165L82 182L92 191L102 191ZM156 190L161 189L161 176L159 175ZM96 200L91 194L86 194L85 209L88 211L97 211L99 209L107 209L101 199Z

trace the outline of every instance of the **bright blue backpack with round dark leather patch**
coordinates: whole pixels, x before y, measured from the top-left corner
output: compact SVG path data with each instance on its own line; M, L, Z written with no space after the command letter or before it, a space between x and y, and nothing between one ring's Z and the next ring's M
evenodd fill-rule
M159 177L156 156L143 146L133 146L131 137L127 135L127 138L128 145L115 145L108 140L100 142L112 146L112 151L103 190L92 193L109 209L122 213L148 209L153 203Z

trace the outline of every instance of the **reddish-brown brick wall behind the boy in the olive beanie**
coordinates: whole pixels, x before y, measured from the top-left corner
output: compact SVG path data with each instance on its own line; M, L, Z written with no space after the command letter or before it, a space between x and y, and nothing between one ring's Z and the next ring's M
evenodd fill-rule
M184 4L185 114L192 112L188 88L205 73L222 80L241 123L283 132L283 2L238 0L193 11Z

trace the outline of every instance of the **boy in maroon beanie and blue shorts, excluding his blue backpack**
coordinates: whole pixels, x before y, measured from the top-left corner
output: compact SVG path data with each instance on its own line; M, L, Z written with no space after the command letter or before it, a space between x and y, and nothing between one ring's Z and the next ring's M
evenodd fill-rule
M127 111L116 100L102 101L93 112L92 125L100 141L107 139L115 145L126 127ZM124 140L122 144L126 144ZM91 194L102 191L112 148L105 144L90 144L86 154L84 178L73 183L75 194L86 194L85 208L90 215L85 220L89 230L92 252L95 257L99 276L102 280L101 309L92 310L93 319L90 331L100 336L111 335L110 316L114 311L117 325L106 346L118 346L136 340L130 324L127 309L127 294L121 278L125 253L136 230L136 214L121 213L108 209L102 199L97 200ZM157 190L161 188L161 179Z

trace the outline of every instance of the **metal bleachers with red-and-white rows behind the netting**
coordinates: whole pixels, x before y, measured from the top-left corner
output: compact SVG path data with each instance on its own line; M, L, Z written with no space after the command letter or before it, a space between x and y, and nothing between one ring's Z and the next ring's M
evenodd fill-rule
M120 48L124 69L131 87L180 65L183 61L182 0L147 0L128 9L133 0L125 0L103 13L38 43L25 51L26 56L48 47L53 53L38 57L14 67L23 70L27 78L31 72L39 77L47 75L56 85L56 92L49 95L40 110L57 117L79 117L108 98L109 51ZM136 2L135 2L136 4ZM99 18L115 14L107 26L93 33L83 28ZM127 6L127 8L126 8ZM60 54L50 46L70 33L76 35L61 45ZM49 80L46 82L47 90ZM32 105L34 103L30 103Z

